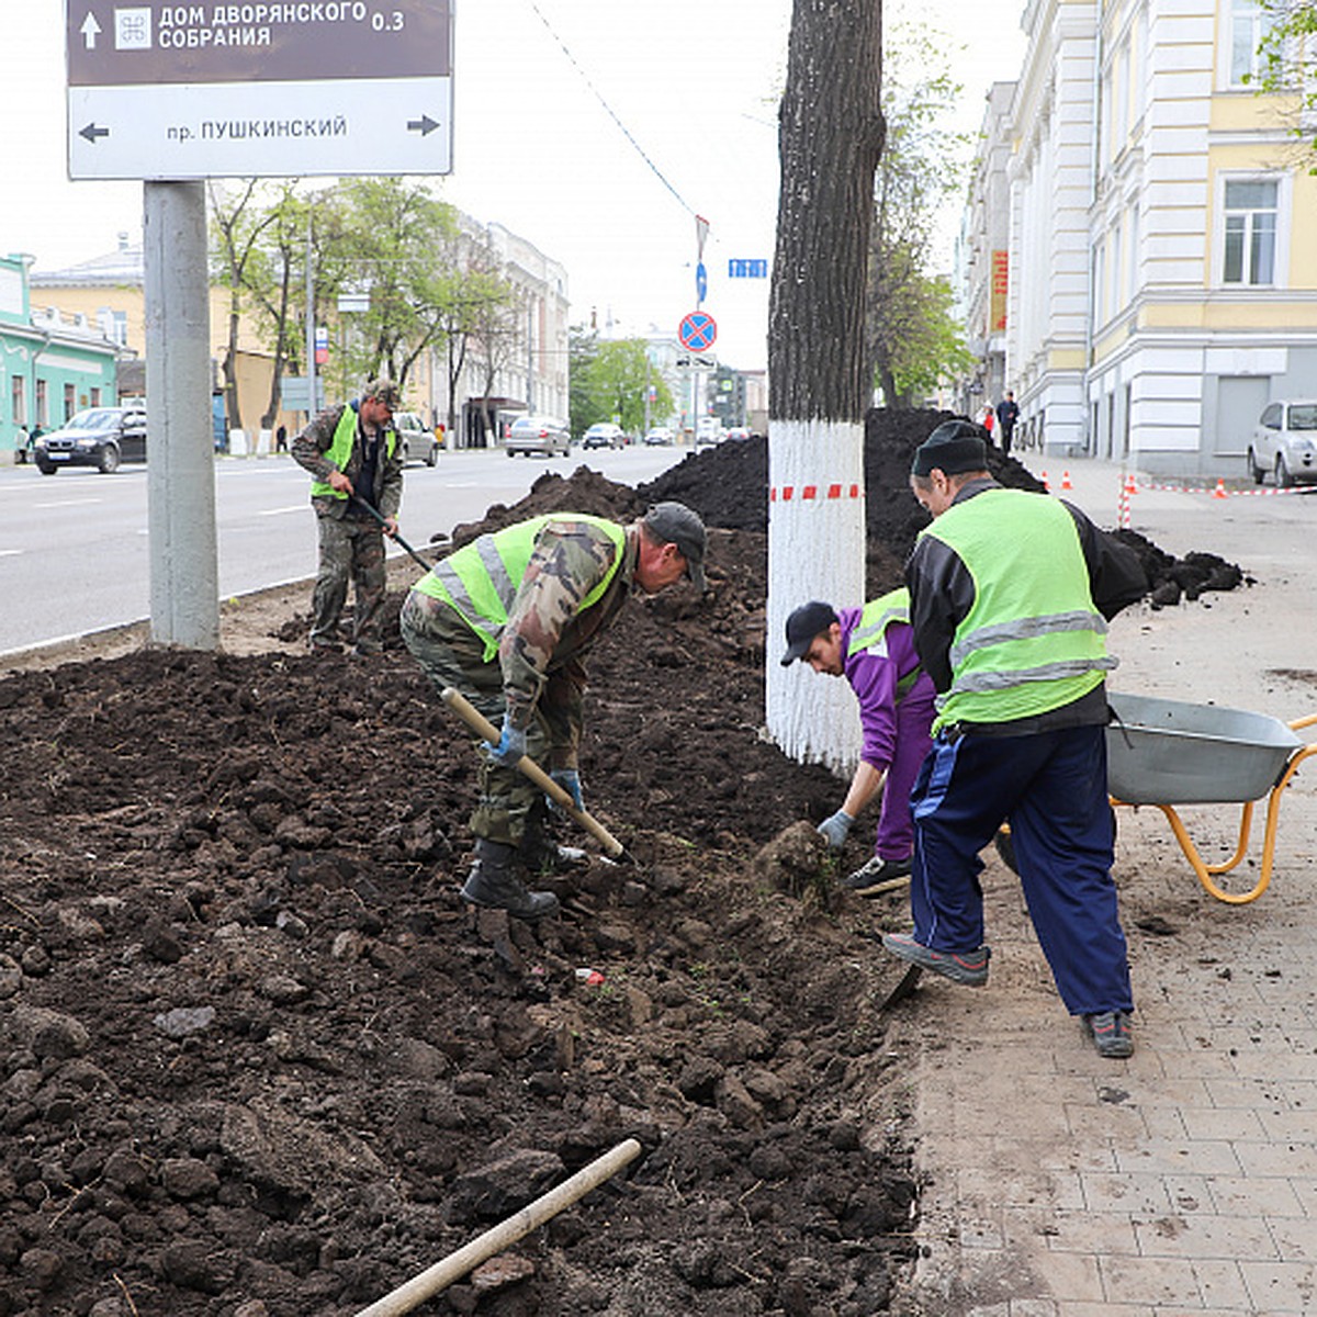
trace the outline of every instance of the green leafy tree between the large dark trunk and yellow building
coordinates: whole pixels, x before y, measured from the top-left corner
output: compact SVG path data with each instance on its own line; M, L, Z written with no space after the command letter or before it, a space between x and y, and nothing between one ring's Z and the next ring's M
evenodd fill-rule
M930 269L938 211L959 195L969 140L943 126L961 88L944 43L927 29L897 29L886 47L886 145L873 180L865 345L889 407L923 402L936 382L972 361L951 313L944 278Z

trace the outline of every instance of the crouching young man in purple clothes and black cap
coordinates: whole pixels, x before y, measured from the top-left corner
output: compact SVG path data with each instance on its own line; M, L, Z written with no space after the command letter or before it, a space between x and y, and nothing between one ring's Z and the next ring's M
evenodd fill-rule
M885 884L910 872L910 789L928 753L934 718L932 681L914 649L909 593L892 590L863 608L802 603L786 619L782 666L797 661L844 677L855 691L863 731L860 763L842 807L818 830L840 851L860 811L882 793L873 855L840 884L856 896L877 896Z

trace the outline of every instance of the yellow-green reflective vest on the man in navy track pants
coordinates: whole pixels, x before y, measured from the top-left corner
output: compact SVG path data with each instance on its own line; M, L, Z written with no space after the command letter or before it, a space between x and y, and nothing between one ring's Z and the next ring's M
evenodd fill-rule
M1115 666L1079 528L1059 502L985 490L952 504L919 532L926 535L954 549L975 582L934 730L1046 714L1088 694Z

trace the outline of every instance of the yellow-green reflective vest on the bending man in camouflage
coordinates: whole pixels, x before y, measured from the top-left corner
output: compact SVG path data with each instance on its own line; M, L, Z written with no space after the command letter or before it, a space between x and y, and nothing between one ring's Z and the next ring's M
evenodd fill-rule
M606 532L616 545L618 552L603 579L581 601L578 611L583 612L599 601L618 574L626 556L627 532L616 522L581 512L535 516L493 535L482 535L443 562L436 562L414 586L421 594L443 599L461 614L462 620L483 639L486 662L498 652L499 637L535 552L535 541L549 522L585 522Z

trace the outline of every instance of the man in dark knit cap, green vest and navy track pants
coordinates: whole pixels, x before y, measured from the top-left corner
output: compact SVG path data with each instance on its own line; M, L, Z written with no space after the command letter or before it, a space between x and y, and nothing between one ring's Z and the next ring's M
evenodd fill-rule
M1137 554L1079 508L1002 489L981 427L944 421L910 485L932 514L906 564L910 622L938 690L911 794L913 934L889 951L988 981L979 852L1004 820L1067 1010L1102 1056L1134 1050L1106 794L1106 620L1147 590Z

